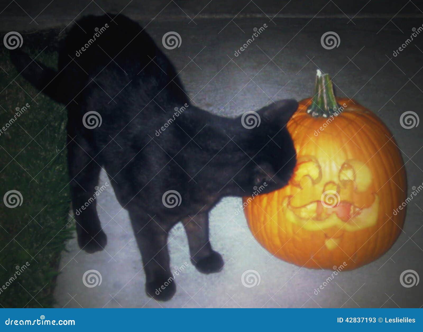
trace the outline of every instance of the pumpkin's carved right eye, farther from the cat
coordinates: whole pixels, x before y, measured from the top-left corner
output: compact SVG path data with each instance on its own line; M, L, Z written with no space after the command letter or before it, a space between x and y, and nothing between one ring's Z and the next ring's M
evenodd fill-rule
M352 181L357 192L365 192L370 187L372 176L370 168L357 159L346 160L339 171L339 183L343 187Z

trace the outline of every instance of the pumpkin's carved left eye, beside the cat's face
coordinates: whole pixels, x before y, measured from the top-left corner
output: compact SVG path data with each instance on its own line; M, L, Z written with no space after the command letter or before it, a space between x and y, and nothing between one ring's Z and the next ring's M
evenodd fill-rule
M321 180L321 167L319 161L314 156L300 156L297 159L297 166L291 184L296 187L304 187L309 181L313 184Z

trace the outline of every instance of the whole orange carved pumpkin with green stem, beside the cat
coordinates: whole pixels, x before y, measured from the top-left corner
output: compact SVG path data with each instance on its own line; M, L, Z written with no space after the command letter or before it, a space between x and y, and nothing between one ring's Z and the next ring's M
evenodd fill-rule
M320 71L315 93L287 125L297 151L289 184L245 197L244 213L272 255L309 268L354 269L379 258L401 232L405 210L393 211L407 192L404 162L382 121L353 100L335 99Z

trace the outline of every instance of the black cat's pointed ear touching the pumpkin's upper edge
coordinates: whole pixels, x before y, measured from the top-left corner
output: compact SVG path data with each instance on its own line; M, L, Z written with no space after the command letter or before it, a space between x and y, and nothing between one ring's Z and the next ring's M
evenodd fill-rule
M298 103L295 99L282 99L263 107L258 111L258 114L266 122L278 123L284 126L297 108Z

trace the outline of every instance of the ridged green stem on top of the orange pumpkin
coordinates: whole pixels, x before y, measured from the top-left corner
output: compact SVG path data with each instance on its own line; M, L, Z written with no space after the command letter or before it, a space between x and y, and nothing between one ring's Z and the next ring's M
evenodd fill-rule
M339 104L336 102L329 74L322 74L317 69L314 97L307 113L313 116L313 118L328 118L335 112L338 112L338 107Z

